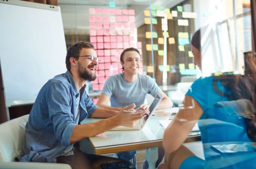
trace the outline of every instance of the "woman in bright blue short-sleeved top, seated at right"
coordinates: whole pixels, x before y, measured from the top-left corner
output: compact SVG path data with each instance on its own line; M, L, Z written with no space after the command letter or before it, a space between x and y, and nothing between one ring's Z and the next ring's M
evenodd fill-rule
M191 43L194 63L201 70L200 30L196 31ZM247 58L245 62L251 75L201 77L192 84L183 108L166 128L163 138L165 162L158 169L256 168L256 77L253 76L256 68L252 65L255 61L250 60L255 56ZM196 122L205 160L182 145ZM232 146L234 153L225 152L225 148ZM214 147L222 149L217 151Z

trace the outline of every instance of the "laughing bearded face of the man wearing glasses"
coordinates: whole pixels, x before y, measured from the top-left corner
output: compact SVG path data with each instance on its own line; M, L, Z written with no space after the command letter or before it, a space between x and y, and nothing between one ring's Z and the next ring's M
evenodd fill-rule
M97 56L95 50L91 48L82 48L79 56L84 56L84 55ZM84 80L90 80L90 81L95 80L96 70L98 68L98 62L95 60L93 61L90 60L89 57L79 57L77 61L78 61L77 71L78 71L79 77Z

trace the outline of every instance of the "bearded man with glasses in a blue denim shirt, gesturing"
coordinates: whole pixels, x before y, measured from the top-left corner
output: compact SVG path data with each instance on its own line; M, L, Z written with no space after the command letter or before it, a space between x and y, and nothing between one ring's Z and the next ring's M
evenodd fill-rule
M120 111L100 108L85 92L86 80L95 80L99 58L94 46L79 42L67 50L67 72L50 79L41 88L26 124L21 162L66 163L72 169L100 169L101 163L118 162L118 158L88 155L74 146L117 126L134 126L147 110L125 113L136 107L125 106ZM80 125L86 117L107 118Z

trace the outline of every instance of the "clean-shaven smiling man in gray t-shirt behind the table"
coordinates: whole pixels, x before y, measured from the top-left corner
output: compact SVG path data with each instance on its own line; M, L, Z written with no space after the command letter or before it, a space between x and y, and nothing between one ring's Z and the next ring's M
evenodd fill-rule
M124 72L109 77L99 97L98 106L118 111L126 105L135 103L137 110L147 109L150 106L150 104L144 104L147 93L153 97L158 93L163 95L158 109L173 106L173 102L150 76L139 74L141 61L139 50L136 48L125 49L120 56L120 61ZM107 105L109 101L111 106ZM128 151L118 153L118 155L119 158L130 160L135 153L136 151ZM158 160L162 161L162 155Z

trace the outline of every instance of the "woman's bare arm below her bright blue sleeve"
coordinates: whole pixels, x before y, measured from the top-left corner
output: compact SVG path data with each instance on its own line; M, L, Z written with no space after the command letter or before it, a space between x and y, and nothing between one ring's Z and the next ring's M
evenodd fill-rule
M200 104L193 97L186 95L183 104L164 133L163 147L168 153L177 150L184 143L203 114Z

